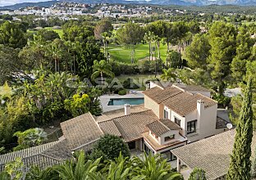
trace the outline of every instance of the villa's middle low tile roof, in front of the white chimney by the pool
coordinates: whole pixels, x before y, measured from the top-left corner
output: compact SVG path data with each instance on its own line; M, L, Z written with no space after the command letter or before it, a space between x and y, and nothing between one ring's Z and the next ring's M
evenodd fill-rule
M141 134L148 131L146 126L156 120L158 120L158 117L153 114L152 110L112 119L125 142L131 142L141 138Z

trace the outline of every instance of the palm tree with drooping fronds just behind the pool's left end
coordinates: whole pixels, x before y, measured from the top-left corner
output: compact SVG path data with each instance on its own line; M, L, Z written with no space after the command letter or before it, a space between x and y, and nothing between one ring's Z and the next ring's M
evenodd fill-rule
M102 60L102 61L94 61L93 65L94 73L91 75L91 79L95 80L99 75L101 77L101 83L103 87L103 74L106 74L113 78L115 74L111 71L112 67L107 63L107 61Z

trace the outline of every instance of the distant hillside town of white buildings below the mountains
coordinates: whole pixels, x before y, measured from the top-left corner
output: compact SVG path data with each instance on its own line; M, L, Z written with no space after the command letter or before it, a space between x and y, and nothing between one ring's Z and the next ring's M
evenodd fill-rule
M35 15L35 16L98 16L98 17L140 17L150 16L156 12L172 15L184 14L186 10L173 10L164 7L150 7L146 5L112 5L107 3L85 4L76 2L57 2L52 7L25 7L19 10L0 10L2 15Z

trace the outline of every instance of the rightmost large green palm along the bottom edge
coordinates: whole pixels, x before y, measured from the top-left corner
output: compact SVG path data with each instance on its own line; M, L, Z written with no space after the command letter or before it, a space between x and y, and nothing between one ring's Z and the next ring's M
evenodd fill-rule
M144 180L183 180L181 173L172 172L171 165L160 155L144 154L143 160L135 157L137 177Z

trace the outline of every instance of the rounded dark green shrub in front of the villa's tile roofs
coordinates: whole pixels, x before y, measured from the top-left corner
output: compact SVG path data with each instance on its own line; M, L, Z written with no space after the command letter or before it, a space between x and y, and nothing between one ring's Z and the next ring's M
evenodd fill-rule
M120 155L120 152L124 157L130 157L128 145L120 137L110 134L101 137L94 146L93 151L97 151L97 154L101 155L103 152L107 160L114 160Z

